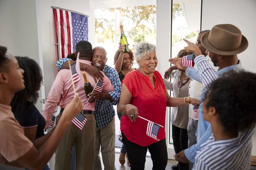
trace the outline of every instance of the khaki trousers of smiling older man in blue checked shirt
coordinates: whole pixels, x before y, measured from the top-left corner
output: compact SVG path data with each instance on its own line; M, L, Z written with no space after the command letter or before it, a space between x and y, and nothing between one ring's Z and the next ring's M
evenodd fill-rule
M94 170L102 170L99 157L101 147L104 170L116 170L115 167L115 116L108 126L96 130Z

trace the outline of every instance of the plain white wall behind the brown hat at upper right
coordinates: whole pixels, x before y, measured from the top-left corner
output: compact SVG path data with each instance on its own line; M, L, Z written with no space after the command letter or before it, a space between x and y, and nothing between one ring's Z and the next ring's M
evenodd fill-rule
M247 38L249 46L238 57L246 70L256 72L256 0L203 0L202 30L223 23L237 26ZM252 155L256 156L256 133Z

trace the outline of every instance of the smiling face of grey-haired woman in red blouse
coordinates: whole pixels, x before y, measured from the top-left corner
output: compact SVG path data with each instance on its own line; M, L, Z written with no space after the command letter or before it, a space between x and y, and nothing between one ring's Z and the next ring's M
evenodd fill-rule
M151 54L146 54L140 59L140 61L138 61L140 68L143 69L146 74L154 73L157 67L157 63L158 61L155 51L153 51Z

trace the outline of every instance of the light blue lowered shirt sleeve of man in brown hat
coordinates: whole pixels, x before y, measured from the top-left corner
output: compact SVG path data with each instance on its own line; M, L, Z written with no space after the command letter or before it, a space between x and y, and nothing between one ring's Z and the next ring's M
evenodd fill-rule
M209 137L212 135L212 127L209 124L207 131L201 137L197 144L192 145L188 149L185 150L185 156L190 162L195 162L196 152L201 149L201 144L207 142Z

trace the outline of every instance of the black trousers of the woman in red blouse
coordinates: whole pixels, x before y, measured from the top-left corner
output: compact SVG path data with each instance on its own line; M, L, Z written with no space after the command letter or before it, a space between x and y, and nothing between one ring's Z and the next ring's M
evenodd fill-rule
M129 153L128 159L131 163L131 170L144 170L147 150L151 154L153 161L152 170L165 170L168 155L166 147L166 139L159 142L150 144L149 146L142 147L138 144L130 142L125 135L122 133L122 139L124 141L127 152Z

